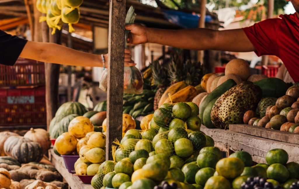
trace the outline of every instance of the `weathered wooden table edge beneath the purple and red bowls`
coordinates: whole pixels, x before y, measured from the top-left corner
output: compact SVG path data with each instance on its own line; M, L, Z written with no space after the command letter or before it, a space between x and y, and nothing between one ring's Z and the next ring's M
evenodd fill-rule
M69 188L72 189L93 189L93 187L89 184L84 184L78 176L74 176L72 173L69 173L68 170L65 168L65 164L63 158L57 156L53 149L49 150L49 156L51 163L55 166L57 171L62 175L62 177L66 180L69 185Z

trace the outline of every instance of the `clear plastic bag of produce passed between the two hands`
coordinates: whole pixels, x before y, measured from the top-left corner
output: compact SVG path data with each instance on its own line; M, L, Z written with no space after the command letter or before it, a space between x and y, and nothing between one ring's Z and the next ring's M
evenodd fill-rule
M136 14L134 13L134 7L130 7L126 16L126 24L133 24ZM125 31L125 48L127 48L127 38L129 30ZM108 82L108 70L106 69L100 80L100 89L107 91ZM124 67L123 73L123 93L129 94L141 94L143 91L143 77L137 67Z

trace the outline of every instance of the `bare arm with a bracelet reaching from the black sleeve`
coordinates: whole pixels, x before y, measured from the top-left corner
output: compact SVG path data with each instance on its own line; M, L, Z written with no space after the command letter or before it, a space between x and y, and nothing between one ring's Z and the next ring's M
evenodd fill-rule
M20 57L71 66L103 67L102 57L99 55L81 52L54 43L28 41L22 50ZM108 54L104 55L104 58L107 67ZM125 49L124 62L125 66L135 65L131 60L130 51L127 49Z

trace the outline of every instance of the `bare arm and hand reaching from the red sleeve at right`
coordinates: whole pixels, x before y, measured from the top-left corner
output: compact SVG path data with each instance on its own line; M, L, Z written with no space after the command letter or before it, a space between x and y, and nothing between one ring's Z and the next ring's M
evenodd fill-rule
M129 42L132 44L158 43L192 50L224 50L250 52L255 48L242 29L210 30L204 28L186 30L164 30L147 28L140 24L126 26L131 30Z

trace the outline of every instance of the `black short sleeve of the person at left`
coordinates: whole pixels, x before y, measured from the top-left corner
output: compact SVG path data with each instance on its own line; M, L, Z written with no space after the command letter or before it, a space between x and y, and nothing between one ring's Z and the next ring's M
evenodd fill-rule
M26 43L26 39L12 36L0 30L0 64L13 66Z

